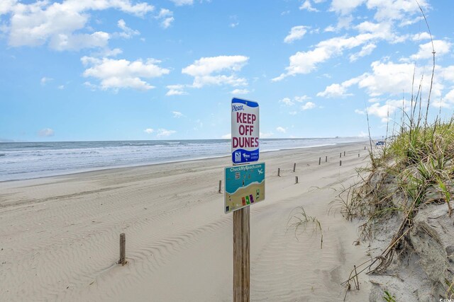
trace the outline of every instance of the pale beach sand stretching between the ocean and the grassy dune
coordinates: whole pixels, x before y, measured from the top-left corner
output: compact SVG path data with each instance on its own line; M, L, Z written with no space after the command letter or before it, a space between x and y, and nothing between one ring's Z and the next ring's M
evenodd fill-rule
M251 301L343 300L341 282L367 256L333 200L358 181L364 146L261 154L266 199L250 208ZM0 301L231 301L232 214L218 194L229 160L0 182ZM321 223L322 249L311 224L287 231L301 206ZM360 281L347 301L368 300Z

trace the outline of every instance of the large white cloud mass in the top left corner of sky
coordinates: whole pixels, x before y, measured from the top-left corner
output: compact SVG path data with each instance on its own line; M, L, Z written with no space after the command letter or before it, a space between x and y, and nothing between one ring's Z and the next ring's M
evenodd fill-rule
M49 47L55 50L105 47L109 33L94 31L87 23L90 11L109 8L135 16L145 16L154 9L145 2L131 4L130 0L66 0L61 3L36 1L32 4L16 4L7 8L11 12L9 45L33 47L49 43Z

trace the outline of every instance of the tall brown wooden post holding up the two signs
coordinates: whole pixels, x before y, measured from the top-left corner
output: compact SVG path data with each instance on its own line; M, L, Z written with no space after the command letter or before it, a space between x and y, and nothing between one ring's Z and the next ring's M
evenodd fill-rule
M249 301L249 207L233 212L233 301Z

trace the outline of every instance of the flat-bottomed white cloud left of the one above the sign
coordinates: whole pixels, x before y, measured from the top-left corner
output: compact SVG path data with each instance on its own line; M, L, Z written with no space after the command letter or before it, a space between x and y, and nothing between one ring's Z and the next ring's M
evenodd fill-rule
M84 66L89 66L84 71L84 77L94 77L101 81L101 89L133 88L148 90L154 88L142 78L156 78L169 74L169 69L157 66L160 61L147 59L146 62L136 60L129 62L126 59L96 59L82 57Z

